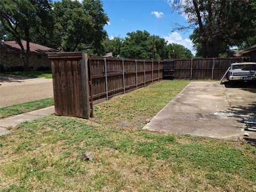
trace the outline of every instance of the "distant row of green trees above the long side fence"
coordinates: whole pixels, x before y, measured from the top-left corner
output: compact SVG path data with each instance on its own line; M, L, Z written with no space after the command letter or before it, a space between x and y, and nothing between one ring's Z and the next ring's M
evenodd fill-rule
M183 45L169 44L164 38L153 36L148 31L137 30L127 33L125 38L115 37L106 39L103 45L105 53L112 52L113 57L134 58L134 59L153 59L153 41L154 41L154 59L170 58L191 58L193 54Z

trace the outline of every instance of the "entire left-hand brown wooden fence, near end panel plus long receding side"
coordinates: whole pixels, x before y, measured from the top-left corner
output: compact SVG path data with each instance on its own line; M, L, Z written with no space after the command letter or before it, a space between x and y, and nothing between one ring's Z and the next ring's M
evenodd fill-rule
M163 61L88 57L82 52L48 53L55 114L89 118L93 103L163 79Z

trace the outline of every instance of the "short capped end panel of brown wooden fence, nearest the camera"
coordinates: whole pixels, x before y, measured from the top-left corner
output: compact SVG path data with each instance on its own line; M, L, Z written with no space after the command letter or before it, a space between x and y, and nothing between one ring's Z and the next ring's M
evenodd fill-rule
M52 65L56 115L90 117L90 92L87 54L48 53Z

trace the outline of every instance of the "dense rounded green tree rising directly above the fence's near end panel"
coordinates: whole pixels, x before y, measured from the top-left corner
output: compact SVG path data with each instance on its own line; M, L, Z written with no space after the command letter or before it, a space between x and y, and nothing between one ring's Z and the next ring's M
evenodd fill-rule
M53 4L53 36L63 51L100 50L108 17L99 0L62 0Z

